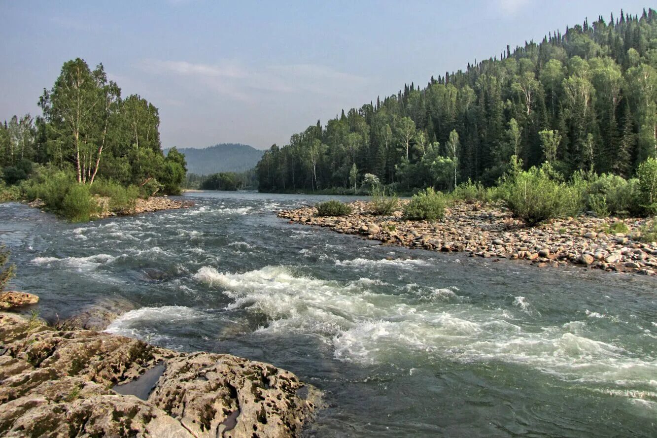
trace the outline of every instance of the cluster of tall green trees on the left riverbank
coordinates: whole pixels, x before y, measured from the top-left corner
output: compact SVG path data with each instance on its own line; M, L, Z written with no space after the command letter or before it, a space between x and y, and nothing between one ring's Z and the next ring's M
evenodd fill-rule
M139 95L122 98L102 64L91 70L80 58L64 63L39 106L43 116L14 116L0 124L5 183L33 176L43 183L58 172L78 185L102 179L148 194L179 194L185 157L175 148L164 156L158 109Z

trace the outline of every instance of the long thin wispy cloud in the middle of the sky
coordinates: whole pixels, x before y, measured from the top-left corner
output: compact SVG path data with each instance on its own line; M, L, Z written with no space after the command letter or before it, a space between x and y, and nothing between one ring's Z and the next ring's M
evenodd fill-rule
M234 60L203 64L179 60L147 59L141 70L163 76L186 77L210 91L237 100L256 100L258 92L341 95L367 80L319 64L245 66Z

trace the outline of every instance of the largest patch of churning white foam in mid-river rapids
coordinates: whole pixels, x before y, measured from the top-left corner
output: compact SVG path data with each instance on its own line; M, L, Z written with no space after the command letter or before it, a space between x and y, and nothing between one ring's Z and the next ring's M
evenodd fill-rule
M587 338L578 330L585 321L536 330L526 319L531 305L521 296L513 304L525 316L512 323L501 309L449 305L426 294L378 294L377 280L369 278L340 284L281 266L246 273L203 267L194 278L231 297L229 309L265 315L269 323L261 331L325 337L339 360L382 363L429 353L463 362L513 362L568 381L637 383L657 375L656 360ZM429 296L449 298L455 290L434 288Z

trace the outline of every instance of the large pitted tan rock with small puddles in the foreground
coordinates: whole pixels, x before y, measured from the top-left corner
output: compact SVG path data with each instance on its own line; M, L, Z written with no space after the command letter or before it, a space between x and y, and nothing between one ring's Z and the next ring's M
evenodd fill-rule
M295 437L319 394L262 362L7 313L0 339L6 437Z

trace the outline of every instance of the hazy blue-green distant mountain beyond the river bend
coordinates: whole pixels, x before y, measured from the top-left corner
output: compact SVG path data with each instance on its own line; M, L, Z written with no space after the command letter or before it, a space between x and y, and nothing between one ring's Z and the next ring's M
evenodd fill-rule
M178 148L185 154L187 171L198 175L210 175L217 172L242 172L255 167L263 150L247 144L221 143L208 148ZM164 154L168 151L164 150Z

